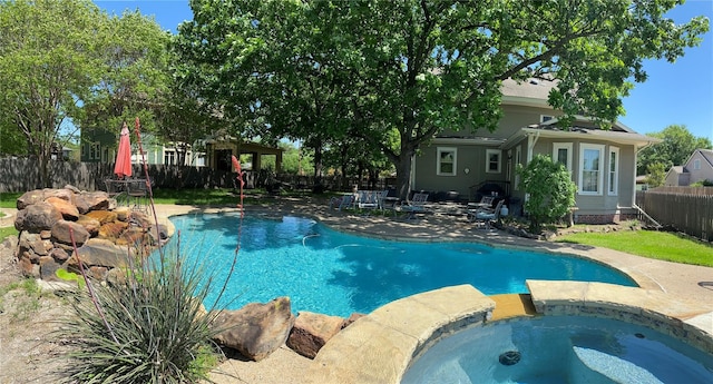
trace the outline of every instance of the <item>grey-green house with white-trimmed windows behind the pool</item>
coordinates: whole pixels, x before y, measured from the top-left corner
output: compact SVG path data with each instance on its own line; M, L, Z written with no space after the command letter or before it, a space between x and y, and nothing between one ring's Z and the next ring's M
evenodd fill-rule
M577 117L557 126L561 114L547 104L551 81L502 82L502 117L498 129L443 132L420 148L414 159L412 189L449 191L478 200L497 193L510 210L521 209L526 196L516 175L518 164L548 155L567 166L577 186L575 223L613 223L637 214L636 155L658 139L614 124L600 129Z

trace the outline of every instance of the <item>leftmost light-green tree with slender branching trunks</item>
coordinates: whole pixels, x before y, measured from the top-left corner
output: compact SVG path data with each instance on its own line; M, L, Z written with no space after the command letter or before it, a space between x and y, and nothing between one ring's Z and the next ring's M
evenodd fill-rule
M0 3L0 120L25 137L42 186L50 186L48 163L59 131L97 83L102 22L87 0Z

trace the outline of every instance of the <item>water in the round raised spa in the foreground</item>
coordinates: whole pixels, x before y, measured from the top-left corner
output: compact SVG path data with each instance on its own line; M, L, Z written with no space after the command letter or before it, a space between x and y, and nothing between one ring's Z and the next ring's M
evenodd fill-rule
M713 356L611 318L543 316L475 326L412 362L401 383L712 383Z

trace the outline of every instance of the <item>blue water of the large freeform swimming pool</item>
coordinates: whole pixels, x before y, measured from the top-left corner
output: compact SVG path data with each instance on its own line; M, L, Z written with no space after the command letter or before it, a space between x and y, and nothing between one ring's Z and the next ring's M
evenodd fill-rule
M172 218L186 264L228 276L240 216ZM170 243L176 243L174 236ZM170 244L168 245L170 249ZM417 293L471 284L486 295L526 293L525 279L636 284L618 270L577 257L470 243L406 243L353 236L312 219L245 217L237 265L221 307L240 308L289 296L292 311L335 316L370 313ZM209 306L216 292L208 297Z

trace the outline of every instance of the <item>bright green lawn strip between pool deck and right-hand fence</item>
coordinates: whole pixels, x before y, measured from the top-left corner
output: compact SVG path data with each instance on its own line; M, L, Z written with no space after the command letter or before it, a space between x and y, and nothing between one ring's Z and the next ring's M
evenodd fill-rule
M605 247L660 260L713 267L713 246L665 232L579 233L561 236L556 242Z

